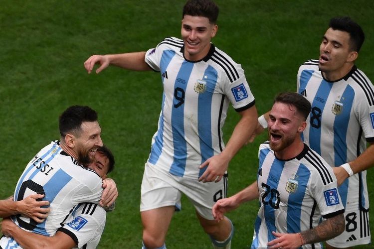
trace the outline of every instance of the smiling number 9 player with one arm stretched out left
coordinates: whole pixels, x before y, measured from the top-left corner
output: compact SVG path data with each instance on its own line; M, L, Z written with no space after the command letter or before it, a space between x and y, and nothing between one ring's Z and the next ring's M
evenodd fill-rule
M211 207L227 191L228 163L257 124L254 97L241 66L210 41L218 7L211 0L188 0L182 39L168 37L147 52L93 55L91 73L108 65L160 72L164 94L159 127L152 139L141 187L144 248L166 248L165 237L181 194L193 203L213 247L230 248L232 223L217 223ZM224 146L222 125L232 104L241 116Z

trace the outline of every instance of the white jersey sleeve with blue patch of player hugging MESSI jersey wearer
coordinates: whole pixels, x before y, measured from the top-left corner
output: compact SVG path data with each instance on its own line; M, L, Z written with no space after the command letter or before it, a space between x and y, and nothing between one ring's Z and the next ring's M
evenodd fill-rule
M100 242L106 220L106 211L93 203L81 203L58 231L69 235L79 249L95 249Z

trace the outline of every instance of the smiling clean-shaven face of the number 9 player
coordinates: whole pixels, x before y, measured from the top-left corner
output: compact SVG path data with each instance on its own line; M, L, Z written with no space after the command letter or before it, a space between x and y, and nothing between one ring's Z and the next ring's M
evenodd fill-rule
M190 61L203 59L209 52L210 40L217 32L218 26L209 23L203 16L185 15L182 20L181 35L185 43L185 57Z

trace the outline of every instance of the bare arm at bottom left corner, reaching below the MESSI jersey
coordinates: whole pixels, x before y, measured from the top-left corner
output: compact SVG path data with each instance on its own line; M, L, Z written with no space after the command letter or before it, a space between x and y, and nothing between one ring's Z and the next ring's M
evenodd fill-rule
M52 237L26 232L15 225L10 219L1 222L1 233L12 237L24 249L71 249L76 247L73 239L62 232L57 232Z

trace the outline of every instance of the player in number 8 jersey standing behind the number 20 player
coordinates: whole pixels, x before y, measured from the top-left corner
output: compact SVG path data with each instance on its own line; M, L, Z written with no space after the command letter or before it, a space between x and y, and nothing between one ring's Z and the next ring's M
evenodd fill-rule
M371 242L366 170L374 165L374 87L355 66L364 39L350 17L332 18L319 60L305 62L297 74L297 91L312 104L304 141L335 166L345 206L346 230L327 242L330 248Z

